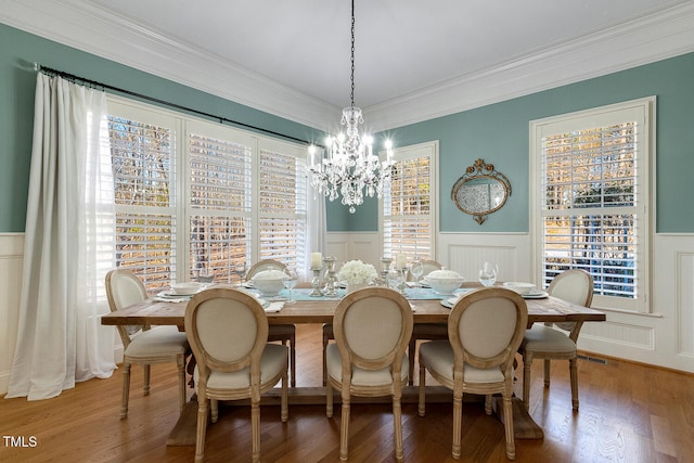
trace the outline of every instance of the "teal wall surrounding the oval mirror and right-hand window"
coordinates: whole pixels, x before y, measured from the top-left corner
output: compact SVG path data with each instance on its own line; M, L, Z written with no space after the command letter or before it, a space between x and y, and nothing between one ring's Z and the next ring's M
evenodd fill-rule
M396 146L439 140L439 218L445 232L528 232L529 123L563 113L657 97L656 230L694 232L694 53L507 100L389 131ZM509 177L506 205L478 226L450 193L465 167L481 157ZM350 230L376 230L377 208Z

